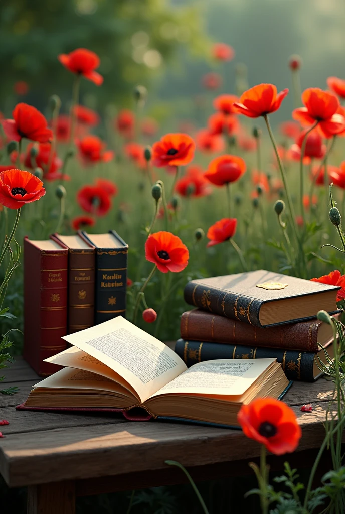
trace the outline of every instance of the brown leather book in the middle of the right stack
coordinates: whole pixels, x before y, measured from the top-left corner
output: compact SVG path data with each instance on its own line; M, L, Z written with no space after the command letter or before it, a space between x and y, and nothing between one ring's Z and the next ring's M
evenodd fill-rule
M338 319L340 314L334 317ZM182 314L181 337L193 341L318 352L318 343L324 346L333 340L333 333L330 325L315 318L300 323L259 328L194 309Z

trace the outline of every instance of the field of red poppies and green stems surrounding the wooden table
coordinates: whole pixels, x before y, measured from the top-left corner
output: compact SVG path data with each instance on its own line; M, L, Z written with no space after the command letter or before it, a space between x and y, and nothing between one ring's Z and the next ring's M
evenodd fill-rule
M127 318L163 341L179 337L183 289L196 278L280 271L341 286L337 302L344 305L345 79L325 76L323 88L301 90L302 62L292 56L286 63L292 86L246 87L238 73L230 90L222 70L235 50L215 43L209 53L219 71L200 77L205 96L202 106L196 100L193 119L148 113L149 85L133 85L125 107L82 103L86 81L100 97L104 83L101 59L89 48L55 57L56 73L70 83L65 103L59 90L50 91L37 108L26 102L26 82L15 83L16 101L0 120L0 366L5 352L3 361L10 360L7 351L21 353L24 235L44 240L54 232L116 230L129 245ZM283 102L290 102L291 116L276 122ZM327 313L319 316L340 336L336 362L324 369L339 415L326 430L326 445L341 441L345 420L345 332ZM312 491L310 479L299 499L289 467L289 497L274 495L268 482L265 448L292 452L301 437L292 409L257 400L238 419L263 448L260 468L252 466L261 511L316 512L325 487ZM332 457L337 489L323 512L345 505L341 443ZM285 500L292 510L284 510ZM270 510L273 504L278 510Z

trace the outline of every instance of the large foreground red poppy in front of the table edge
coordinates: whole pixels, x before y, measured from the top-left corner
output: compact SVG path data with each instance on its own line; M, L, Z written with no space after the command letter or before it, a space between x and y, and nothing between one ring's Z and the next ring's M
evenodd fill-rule
M237 421L244 435L276 455L296 450L302 435L291 407L274 398L258 398L242 405Z

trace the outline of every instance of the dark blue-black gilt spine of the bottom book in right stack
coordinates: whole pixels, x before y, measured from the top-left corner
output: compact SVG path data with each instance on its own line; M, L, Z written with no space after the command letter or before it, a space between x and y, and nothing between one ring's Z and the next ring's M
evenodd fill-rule
M197 362L216 359L269 359L276 358L289 380L314 382L315 353L259 348L237 344L218 344L179 339L175 352L189 368Z

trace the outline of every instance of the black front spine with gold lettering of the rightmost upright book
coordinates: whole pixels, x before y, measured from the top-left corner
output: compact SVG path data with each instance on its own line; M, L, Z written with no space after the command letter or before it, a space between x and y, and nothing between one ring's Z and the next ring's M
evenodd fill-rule
M96 325L117 316L126 316L128 248L96 250Z

